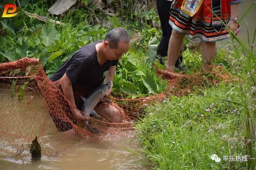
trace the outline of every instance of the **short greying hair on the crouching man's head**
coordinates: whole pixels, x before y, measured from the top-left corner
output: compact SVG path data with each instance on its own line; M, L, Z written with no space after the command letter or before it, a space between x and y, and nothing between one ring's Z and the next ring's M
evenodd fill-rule
M124 28L118 27L110 30L106 35L105 40L109 42L110 48L116 49L120 41L129 43L130 36L127 30L125 30Z

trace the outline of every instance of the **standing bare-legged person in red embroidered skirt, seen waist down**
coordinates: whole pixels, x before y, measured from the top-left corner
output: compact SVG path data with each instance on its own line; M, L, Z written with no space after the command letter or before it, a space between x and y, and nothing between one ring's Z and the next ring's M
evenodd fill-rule
M215 57L216 41L230 37L229 31L219 19L227 24L235 35L240 31L237 13L238 4L241 2L242 0L174 0L169 20L173 31L169 41L168 64L165 71L174 71L174 64L180 54L186 34L189 39L199 37L203 41L202 60L203 68L206 68ZM192 16L190 11L184 11L186 3L187 9L197 5L197 12L194 11Z

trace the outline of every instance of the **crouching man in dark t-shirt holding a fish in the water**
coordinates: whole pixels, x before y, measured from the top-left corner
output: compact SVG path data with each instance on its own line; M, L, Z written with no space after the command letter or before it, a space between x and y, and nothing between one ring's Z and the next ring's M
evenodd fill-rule
M118 59L128 51L129 47L130 37L127 30L114 28L108 32L104 40L88 44L75 51L49 78L70 102L71 105L62 107L74 124L78 120L89 119L87 116L82 116L79 111L83 105L80 96L87 97L103 82L113 81ZM111 93L111 90L112 88L106 96ZM111 123L123 121L120 108L108 103L99 103L94 110ZM51 113L50 115L59 131L74 131L70 122Z

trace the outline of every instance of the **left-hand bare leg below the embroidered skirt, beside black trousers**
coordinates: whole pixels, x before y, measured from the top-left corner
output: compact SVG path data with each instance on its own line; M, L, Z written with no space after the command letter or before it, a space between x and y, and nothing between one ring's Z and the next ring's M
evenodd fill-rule
M182 49L183 39L186 34L179 33L172 30L172 35L169 40L168 46L168 64L167 69L174 70L174 65L177 61L178 55Z

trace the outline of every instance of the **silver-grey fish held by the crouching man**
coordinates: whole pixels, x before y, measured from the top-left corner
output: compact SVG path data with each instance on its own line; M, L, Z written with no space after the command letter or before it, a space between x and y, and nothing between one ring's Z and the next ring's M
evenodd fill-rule
M94 89L93 92L88 96L88 98L82 97L82 100L84 102L82 107L82 112L84 116L90 116L90 114L98 115L94 108L99 103L100 99L109 101L107 98L105 98L106 94L109 92L110 88L112 88L113 82L108 81L102 85L100 85L98 88ZM89 125L88 120L84 120L84 124L89 128L90 131L94 132L95 134L99 133L99 130L95 127L92 127Z

